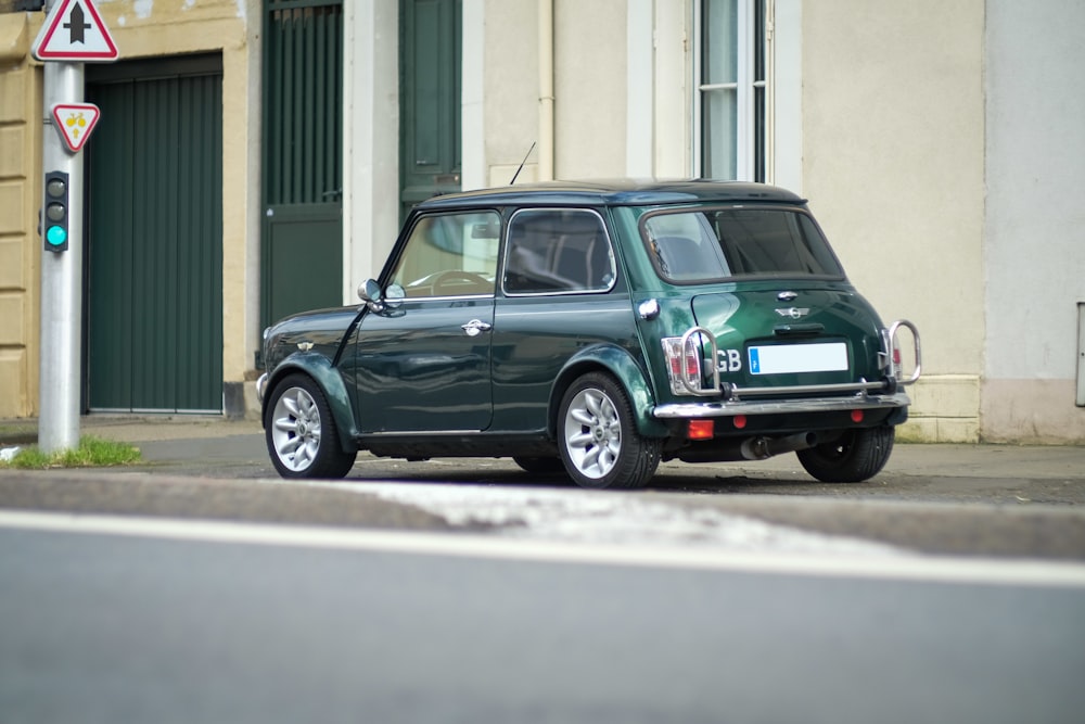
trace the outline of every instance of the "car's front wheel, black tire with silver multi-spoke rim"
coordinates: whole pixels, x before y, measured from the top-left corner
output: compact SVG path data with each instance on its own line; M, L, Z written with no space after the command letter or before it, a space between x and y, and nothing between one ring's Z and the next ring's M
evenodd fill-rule
M358 452L340 447L328 398L306 374L290 374L275 386L264 418L264 440L283 478L343 478Z

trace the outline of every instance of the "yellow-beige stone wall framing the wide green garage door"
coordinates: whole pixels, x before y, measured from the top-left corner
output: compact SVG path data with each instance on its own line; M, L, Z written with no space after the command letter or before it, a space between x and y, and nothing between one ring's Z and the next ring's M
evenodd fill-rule
M259 0L98 3L120 60L222 53L224 377L253 367L259 312ZM0 13L0 418L38 407L41 64L44 13ZM103 117L100 123L108 123ZM93 137L88 143L93 143Z

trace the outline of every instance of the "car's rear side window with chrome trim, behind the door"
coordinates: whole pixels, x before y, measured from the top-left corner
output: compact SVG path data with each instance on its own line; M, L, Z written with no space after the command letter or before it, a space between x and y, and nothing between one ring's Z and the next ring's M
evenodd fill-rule
M604 292L614 270L607 229L593 211L523 209L509 223L507 294Z

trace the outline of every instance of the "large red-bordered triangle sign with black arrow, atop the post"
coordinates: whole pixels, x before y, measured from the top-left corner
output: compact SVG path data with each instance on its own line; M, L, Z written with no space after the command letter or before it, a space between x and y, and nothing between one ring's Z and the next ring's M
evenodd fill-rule
M117 46L93 0L61 0L34 42L39 61L115 61Z

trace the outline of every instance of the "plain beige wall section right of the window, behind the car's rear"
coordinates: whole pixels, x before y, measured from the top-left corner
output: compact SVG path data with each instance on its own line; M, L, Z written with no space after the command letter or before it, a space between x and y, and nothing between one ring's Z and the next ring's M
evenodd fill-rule
M803 4L803 192L852 280L922 333L905 436L974 441L983 372L983 0Z

